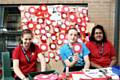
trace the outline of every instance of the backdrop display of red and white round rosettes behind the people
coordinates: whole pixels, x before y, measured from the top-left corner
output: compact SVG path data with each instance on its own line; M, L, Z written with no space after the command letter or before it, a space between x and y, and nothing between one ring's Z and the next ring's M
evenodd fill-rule
M30 29L37 39L40 49L49 54L49 51L57 51L64 43L68 43L65 37L69 28L77 28L82 35L81 40L87 41L86 27L90 21L88 8L69 5L21 5L21 29ZM89 36L87 36L89 37ZM34 41L33 41L34 42ZM81 46L75 45L74 51L79 53ZM50 57L49 57L50 56ZM50 54L46 57L53 57L60 60L58 54Z

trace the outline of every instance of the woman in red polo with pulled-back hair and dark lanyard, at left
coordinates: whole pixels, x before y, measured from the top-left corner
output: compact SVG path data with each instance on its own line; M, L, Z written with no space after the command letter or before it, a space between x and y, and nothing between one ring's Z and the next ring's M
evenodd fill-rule
M39 47L32 43L32 31L22 31L21 43L13 50L13 70L16 74L15 80L29 80L27 75L37 71L36 62L41 63L41 71L46 70L44 56Z

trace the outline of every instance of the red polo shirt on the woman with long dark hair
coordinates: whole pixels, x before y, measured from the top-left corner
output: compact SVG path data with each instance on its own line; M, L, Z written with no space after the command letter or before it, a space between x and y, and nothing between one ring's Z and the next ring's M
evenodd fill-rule
M99 54L97 45L93 41L89 41L86 46L90 50L90 61L99 64L103 67L108 67L111 63L111 58L115 56L115 49L112 44L107 41L104 43L103 53Z

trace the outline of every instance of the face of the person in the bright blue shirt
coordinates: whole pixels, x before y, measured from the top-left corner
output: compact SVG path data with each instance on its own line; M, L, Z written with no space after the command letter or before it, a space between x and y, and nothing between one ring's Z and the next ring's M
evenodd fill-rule
M76 42L78 39L78 32L74 29L69 30L67 38L70 43Z

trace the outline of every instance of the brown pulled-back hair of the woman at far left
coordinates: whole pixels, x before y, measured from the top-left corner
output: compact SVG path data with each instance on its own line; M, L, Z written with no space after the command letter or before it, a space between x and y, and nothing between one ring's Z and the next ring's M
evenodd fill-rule
M24 34L31 34L32 37L33 37L32 31L29 30L29 29L24 29L24 30L22 31L22 33L21 33L21 37L23 37ZM20 44L22 44L22 43L23 43L23 42L22 42L22 40L21 40L21 41L20 41ZM34 43L31 43L29 49L30 49L31 52L34 52L34 51L35 51L35 44L34 44Z

